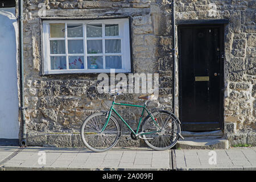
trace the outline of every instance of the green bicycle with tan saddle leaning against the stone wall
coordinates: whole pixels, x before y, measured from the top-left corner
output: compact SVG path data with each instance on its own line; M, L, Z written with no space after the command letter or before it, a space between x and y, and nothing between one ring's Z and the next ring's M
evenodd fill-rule
M121 136L121 122L118 118L131 130L131 139L143 139L154 150L168 150L175 146L179 138L183 139L180 134L180 121L175 117L174 113L163 109L153 109L154 111L151 112L151 110L146 108L147 101L154 98L154 94L138 97L146 100L143 106L117 103L115 102L115 98L118 94L120 93L117 92L114 95L109 111L92 114L82 123L82 142L90 150L94 152L105 152L117 144ZM131 129L128 123L114 109L114 105L142 108L137 130ZM148 115L142 121L144 111Z

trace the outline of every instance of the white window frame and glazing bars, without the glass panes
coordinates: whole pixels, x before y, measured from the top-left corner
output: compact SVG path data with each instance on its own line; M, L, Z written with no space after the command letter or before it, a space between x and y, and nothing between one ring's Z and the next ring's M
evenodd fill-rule
M50 23L65 23L65 38L50 38L49 24ZM82 23L83 38L68 38L67 23ZM131 72L131 57L130 57L130 28L129 19L102 19L102 20L43 20L43 75L63 74L63 73L110 73L110 69L87 69L87 56L103 56L103 68L105 68L105 56L122 56L122 69L114 69L115 73L130 73ZM86 38L86 24L102 24L102 38ZM119 36L105 36L105 24L118 24ZM65 54L67 61L67 69L51 69L50 60L50 41L49 40L65 40ZM68 56L72 54L67 51L67 40L84 40L84 69L68 69ZM121 39L121 53L105 53L106 39ZM87 54L86 40L102 40L102 53ZM76 54L79 55L79 54ZM59 55L61 56L61 55Z

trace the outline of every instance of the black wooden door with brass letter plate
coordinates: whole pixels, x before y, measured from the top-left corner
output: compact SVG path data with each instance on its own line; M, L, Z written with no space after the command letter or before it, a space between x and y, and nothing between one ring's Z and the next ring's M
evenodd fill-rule
M183 131L222 129L223 28L179 27L179 117Z

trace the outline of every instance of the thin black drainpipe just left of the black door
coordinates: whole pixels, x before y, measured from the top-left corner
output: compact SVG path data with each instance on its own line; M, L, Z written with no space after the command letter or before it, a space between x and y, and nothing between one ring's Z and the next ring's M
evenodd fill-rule
M175 113L175 103L176 103L176 99L175 99L175 84L176 84L176 27L175 27L175 0L172 0L172 26L173 28L173 38L172 38L172 44L174 46L174 48L172 49L174 51L174 70L173 70L173 76L174 76L174 84L173 84L173 88L172 88L172 96L173 96L173 102L172 102L172 108L174 108L174 113Z

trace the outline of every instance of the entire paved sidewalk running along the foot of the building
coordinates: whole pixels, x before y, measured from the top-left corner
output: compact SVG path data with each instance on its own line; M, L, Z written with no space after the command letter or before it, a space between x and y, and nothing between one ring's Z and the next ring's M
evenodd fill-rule
M86 148L0 146L0 169L256 171L256 147L167 151L113 148L108 152L96 153Z

